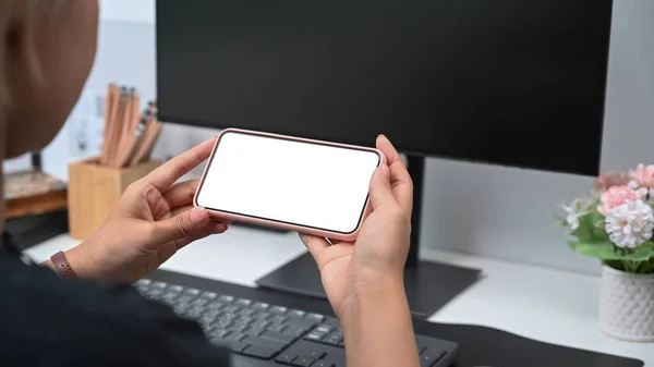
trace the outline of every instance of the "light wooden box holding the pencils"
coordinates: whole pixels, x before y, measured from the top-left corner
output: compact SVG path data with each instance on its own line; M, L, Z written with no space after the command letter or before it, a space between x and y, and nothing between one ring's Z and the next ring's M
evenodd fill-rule
M69 231L71 237L87 240L95 233L128 186L145 176L161 162L150 160L138 166L113 169L90 158L69 166Z

